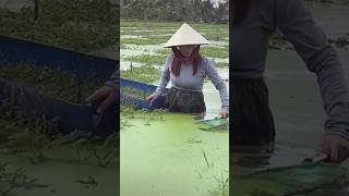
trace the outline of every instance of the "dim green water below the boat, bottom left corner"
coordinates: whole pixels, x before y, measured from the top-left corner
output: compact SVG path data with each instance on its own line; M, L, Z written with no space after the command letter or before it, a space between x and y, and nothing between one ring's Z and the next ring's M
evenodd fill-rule
M9 171L23 168L27 180L36 179L38 187L14 188L5 196L67 196L67 195L106 195L118 193L119 170L117 161L107 167L98 167L92 158L88 161L77 161L73 147L46 149L46 160L33 163L29 156L9 155L1 152L1 163L9 166ZM87 156L87 154L81 154Z

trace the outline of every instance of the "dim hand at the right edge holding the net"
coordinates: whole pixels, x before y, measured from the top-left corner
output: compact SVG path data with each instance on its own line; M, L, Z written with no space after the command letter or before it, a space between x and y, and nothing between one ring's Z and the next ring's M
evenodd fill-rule
M328 156L326 161L339 163L349 157L349 140L339 135L326 135L323 152Z

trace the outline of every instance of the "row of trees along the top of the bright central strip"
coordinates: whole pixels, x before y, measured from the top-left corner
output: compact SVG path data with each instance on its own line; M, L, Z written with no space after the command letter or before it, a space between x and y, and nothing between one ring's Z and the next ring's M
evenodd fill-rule
M121 17L153 21L226 23L229 1L210 0L123 0Z

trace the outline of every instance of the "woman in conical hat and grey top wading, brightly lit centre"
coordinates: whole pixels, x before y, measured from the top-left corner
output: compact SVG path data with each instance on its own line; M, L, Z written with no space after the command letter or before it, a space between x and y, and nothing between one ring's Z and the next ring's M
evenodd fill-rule
M203 36L184 23L165 45L165 48L172 49L172 53L166 60L157 89L147 100L153 102L157 99L171 81L172 87L166 95L165 108L173 112L204 113L206 107L202 89L204 78L208 76L219 90L219 115L227 118L229 98L226 84L212 62L200 54L200 46L207 44Z

